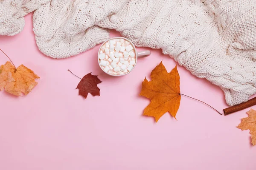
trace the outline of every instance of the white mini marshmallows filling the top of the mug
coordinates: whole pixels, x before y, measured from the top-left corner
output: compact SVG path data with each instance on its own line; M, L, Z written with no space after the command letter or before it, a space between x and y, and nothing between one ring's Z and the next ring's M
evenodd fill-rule
M136 63L133 45L123 38L105 42L99 51L99 65L108 74L122 75L132 71Z

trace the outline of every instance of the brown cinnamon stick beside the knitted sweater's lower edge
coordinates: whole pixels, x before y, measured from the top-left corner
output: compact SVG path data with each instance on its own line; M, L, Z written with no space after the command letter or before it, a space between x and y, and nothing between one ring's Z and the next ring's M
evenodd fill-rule
M228 115L237 111L241 111L243 109L249 108L253 105L256 105L256 97L254 97L253 99L248 100L247 102L241 103L239 105L234 105L231 106L229 108L225 108L223 109L224 111L224 115Z

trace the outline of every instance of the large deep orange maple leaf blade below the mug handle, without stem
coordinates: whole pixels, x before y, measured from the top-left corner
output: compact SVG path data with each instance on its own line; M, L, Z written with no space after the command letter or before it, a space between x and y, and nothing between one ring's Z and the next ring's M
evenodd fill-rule
M153 116L156 122L168 112L175 117L180 107L180 75L177 66L168 73L163 62L151 72L151 81L145 78L142 83L141 96L151 99L143 115Z

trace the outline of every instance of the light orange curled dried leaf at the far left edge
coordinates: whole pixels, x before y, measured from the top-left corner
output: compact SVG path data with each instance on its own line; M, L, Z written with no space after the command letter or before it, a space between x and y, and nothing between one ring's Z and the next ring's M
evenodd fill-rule
M39 79L32 70L20 65L17 69L11 62L6 62L0 66L0 91L5 89L6 92L16 96L27 95L38 83Z

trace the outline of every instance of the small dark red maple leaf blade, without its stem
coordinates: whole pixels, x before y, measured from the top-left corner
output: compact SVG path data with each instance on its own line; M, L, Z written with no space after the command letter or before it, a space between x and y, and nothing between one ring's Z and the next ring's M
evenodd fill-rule
M87 98L88 93L92 94L93 96L100 96L100 89L97 85L101 82L102 81L98 78L98 76L93 76L91 73L89 73L81 79L76 89L79 90L79 95L84 96L85 99Z

